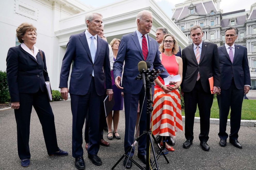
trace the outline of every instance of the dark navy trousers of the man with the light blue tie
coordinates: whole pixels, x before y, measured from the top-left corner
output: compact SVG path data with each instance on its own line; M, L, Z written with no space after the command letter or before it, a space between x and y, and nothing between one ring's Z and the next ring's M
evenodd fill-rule
M95 89L94 78L91 80L89 91L86 95L70 94L72 122L72 156L83 156L83 134L85 118L89 123L89 146L88 154L97 155L100 148L99 123L103 96L99 96ZM88 115L87 115L88 114Z

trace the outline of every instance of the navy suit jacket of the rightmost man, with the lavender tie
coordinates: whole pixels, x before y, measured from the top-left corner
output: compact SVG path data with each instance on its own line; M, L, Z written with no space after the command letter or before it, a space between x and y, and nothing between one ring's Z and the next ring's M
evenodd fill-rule
M234 77L236 88L244 89L244 85L251 85L250 70L247 59L247 48L235 44L233 64L229 58L225 45L218 47L221 73L221 89L227 90Z

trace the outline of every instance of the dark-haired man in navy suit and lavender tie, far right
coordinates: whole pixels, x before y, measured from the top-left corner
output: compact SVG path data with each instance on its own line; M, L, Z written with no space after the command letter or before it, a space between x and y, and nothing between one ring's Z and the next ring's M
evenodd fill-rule
M219 145L227 145L227 119L230 112L229 143L242 148L238 142L243 97L251 86L250 70L247 59L247 49L236 45L238 29L234 27L225 30L226 43L218 47L221 73L221 93L217 96L220 109Z

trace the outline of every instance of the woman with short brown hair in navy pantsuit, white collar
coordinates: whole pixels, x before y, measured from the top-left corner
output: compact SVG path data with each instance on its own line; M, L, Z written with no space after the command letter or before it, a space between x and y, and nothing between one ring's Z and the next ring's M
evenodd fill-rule
M29 129L30 115L34 106L42 124L47 153L58 156L68 155L57 145L54 115L46 92L45 82L50 81L45 55L40 55L36 43L36 28L22 23L16 29L21 44L9 49L6 58L6 74L17 123L18 155L21 166L30 164Z

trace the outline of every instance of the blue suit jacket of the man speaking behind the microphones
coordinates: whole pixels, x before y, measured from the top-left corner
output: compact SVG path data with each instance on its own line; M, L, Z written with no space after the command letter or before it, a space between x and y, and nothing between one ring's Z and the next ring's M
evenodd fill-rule
M147 35L148 36L148 35ZM143 82L142 80L135 80L135 78L139 74L138 63L140 61L144 61L142 55L142 49L140 47L140 43L138 40L138 36L136 31L130 34L123 35L116 57L116 61L114 62L114 78L122 75L123 71L123 63L124 65L124 73L122 80L122 87L124 87L124 93L130 94L138 94L141 91ZM151 63L150 69L162 69L165 70L161 77L168 77L164 66L161 64L161 60L159 57L159 51L157 46L157 41L148 36L148 56L146 61Z

